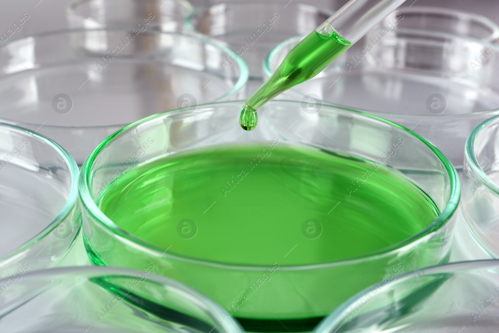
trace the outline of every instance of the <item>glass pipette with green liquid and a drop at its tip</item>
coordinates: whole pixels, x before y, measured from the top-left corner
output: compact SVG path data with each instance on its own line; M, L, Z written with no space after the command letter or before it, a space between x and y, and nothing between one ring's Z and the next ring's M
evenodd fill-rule
M281 92L322 71L405 0L350 0L289 51L277 70L248 98L239 123L250 131L258 110Z

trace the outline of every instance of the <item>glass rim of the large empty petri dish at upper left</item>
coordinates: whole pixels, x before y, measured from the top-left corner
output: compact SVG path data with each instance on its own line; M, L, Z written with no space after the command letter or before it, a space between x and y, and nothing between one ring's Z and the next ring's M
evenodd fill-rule
M0 43L0 47L3 47L3 45L6 45L8 43L16 42L18 40L22 39L28 39L28 38L37 38L37 37L43 37L43 36L48 36L48 35L57 35L57 34L68 34L68 33L85 33L88 31L119 31L119 30L125 30L126 28L95 28L95 29L85 29L85 28L72 28L72 29L58 29L58 30L50 30L50 31L43 31L43 32L38 32L38 33L33 33L25 36L20 36L20 37L15 37L12 39L8 39L4 43ZM239 56L237 55L234 51L229 49L228 47L222 45L220 42L208 38L202 34L186 34L186 33L181 33L181 32L175 32L175 31L144 31L143 33L145 34L171 34L171 35L177 35L185 38L192 38L192 39L197 39L199 41L205 42L207 44L214 45L215 47L218 47L219 49L223 50L224 52L230 54L237 62L239 65L239 68L241 70L241 74L239 75L239 79L234 85L234 87L223 94L222 96L218 97L211 103L215 103L220 101L221 99L224 99L227 96L230 96L237 91L243 89L248 82L248 77L250 75L250 70L248 69L248 65L246 62ZM201 104L199 104L201 105ZM163 111L165 112L165 111ZM161 113L161 112L160 112ZM16 121L14 119L7 119L7 118L0 118L0 122L5 122L5 121ZM39 123L30 123L26 121L16 121L16 123L22 123L26 125L40 125ZM91 125L91 126L61 126L61 125L44 125L44 127L51 127L51 128L77 128L77 129L88 129L88 128L105 128L109 126L121 126L125 127L129 125L129 122L125 123L116 123L116 124L108 124L108 125Z

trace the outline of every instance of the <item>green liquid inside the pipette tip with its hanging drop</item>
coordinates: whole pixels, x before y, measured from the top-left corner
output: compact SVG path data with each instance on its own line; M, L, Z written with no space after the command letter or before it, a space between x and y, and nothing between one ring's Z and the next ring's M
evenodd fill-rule
M239 118L241 127L250 131L256 127L256 110L281 92L304 82L327 67L352 43L333 29L329 35L312 31L286 55L277 70L245 102Z

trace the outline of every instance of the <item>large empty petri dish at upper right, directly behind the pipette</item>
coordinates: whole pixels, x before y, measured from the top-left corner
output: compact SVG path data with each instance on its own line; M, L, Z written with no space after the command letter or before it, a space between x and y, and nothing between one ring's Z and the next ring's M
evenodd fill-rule
M302 38L288 39L270 52L265 77ZM396 24L391 31L378 27L279 98L333 102L389 119L430 140L461 171L467 137L499 114L498 48Z

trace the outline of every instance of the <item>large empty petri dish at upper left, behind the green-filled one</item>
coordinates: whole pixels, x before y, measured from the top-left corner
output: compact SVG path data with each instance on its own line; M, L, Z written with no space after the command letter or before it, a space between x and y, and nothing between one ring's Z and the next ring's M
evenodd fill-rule
M232 65L223 68L228 58ZM203 37L149 29L64 30L0 46L0 119L37 130L81 165L148 115L241 98L247 66Z

